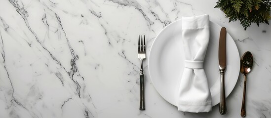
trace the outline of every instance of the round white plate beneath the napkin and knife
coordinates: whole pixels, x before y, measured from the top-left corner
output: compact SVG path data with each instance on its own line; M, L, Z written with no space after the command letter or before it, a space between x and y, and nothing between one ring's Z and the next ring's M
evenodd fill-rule
M149 72L155 89L172 105L184 69L182 46L182 20L164 28L155 38L149 55ZM210 21L210 41L205 56L204 70L212 95L212 106L220 99L220 72L218 65L218 43L222 27ZM227 68L225 73L226 97L234 88L240 69L240 57L232 36L226 35Z

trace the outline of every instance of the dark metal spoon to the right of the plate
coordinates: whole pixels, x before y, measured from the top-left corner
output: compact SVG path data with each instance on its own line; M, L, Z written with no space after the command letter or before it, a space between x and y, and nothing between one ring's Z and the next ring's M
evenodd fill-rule
M248 51L245 52L241 58L241 67L240 72L244 75L244 91L243 91L243 101L241 107L241 117L246 116L246 109L245 109L245 95L246 95L246 75L251 71L253 65L253 56Z

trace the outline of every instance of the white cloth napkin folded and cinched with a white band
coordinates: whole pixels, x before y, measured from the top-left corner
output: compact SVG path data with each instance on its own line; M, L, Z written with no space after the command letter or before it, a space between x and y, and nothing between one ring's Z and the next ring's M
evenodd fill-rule
M212 97L203 69L209 36L209 15L182 18L185 68L177 93L179 111L198 113L212 110Z

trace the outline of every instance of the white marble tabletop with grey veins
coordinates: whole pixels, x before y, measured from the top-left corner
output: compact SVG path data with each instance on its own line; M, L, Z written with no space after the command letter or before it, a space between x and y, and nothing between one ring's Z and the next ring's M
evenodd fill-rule
M271 26L244 30L217 0L0 0L0 118L241 118L243 76L210 113L186 113L155 90L144 61L146 110L139 110L137 41L147 54L182 16L209 14L250 51L246 118L271 118Z

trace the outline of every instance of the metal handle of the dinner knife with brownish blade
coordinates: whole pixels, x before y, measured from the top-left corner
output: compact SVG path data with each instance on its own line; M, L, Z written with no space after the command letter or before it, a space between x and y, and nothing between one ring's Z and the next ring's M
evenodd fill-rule
M221 115L225 115L227 113L226 107L226 97L225 97L225 84L224 84L224 73L225 70L220 70L220 103L219 103L219 112Z

